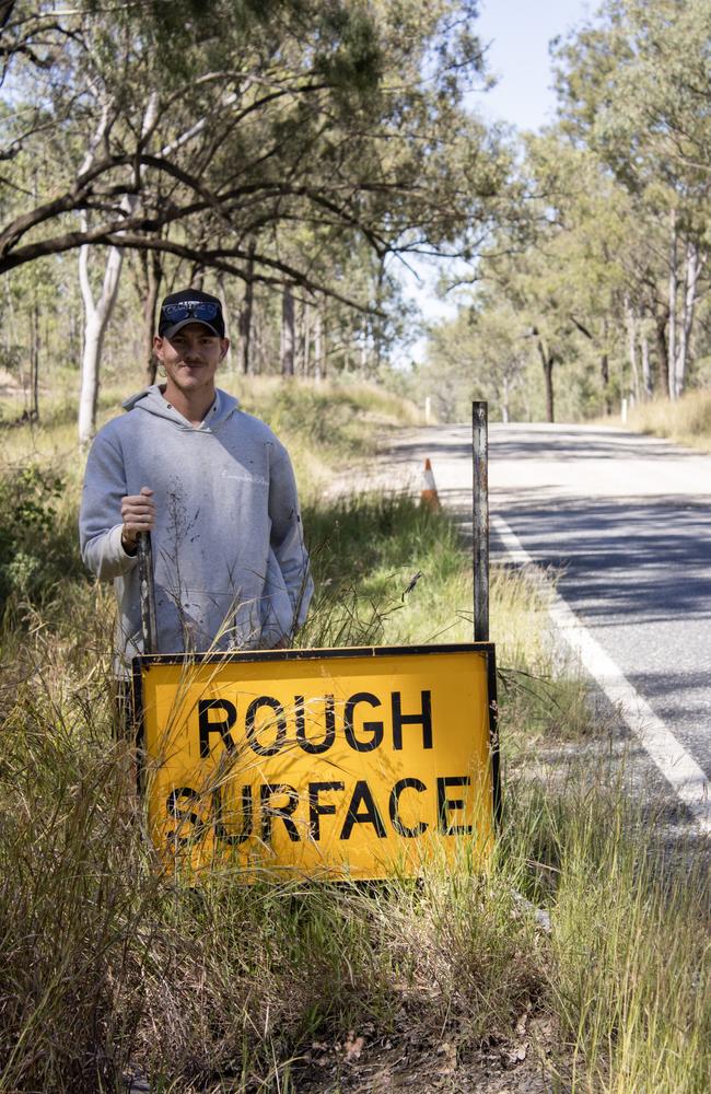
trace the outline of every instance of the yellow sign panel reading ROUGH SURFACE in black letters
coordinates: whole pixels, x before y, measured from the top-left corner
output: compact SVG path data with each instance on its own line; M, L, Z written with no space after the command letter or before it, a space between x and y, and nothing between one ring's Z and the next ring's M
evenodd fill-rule
M485 857L499 801L493 656L473 643L137 657L156 847L249 881Z

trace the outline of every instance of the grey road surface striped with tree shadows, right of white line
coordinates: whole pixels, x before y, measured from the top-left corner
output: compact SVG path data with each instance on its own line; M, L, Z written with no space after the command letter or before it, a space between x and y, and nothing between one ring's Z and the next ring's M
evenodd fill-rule
M470 426L411 431L392 455L412 474L429 456L443 502L467 512ZM489 489L492 557L501 517L709 779L711 456L619 429L493 424Z

